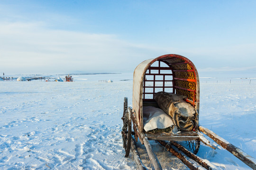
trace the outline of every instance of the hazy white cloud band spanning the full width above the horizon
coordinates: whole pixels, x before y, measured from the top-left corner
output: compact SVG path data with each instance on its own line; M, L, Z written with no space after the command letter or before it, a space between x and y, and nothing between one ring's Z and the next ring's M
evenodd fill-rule
M1 72L133 71L143 60L175 53L200 71L229 71L255 65L256 44L181 48L137 44L114 34L88 34L46 28L44 22L0 22ZM200 69L204 68L204 69Z

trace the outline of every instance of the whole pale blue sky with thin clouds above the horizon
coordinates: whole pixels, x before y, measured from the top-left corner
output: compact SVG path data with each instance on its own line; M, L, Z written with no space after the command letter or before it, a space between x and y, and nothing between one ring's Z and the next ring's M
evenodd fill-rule
M255 0L1 0L1 72L128 72L175 53L256 71Z

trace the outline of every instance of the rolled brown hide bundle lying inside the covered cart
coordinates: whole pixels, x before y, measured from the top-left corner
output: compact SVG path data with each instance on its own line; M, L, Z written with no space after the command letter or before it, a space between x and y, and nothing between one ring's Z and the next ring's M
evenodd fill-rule
M174 125L182 131L191 131L195 126L197 112L184 98L185 96L174 93L155 93L155 101L173 119Z

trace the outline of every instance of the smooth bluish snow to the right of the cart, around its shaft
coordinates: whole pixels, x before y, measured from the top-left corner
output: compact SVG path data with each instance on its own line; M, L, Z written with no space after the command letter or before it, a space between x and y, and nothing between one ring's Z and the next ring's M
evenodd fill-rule
M200 124L256 158L256 84L201 83ZM203 153L203 152L204 153ZM231 153L201 147L198 155L227 170L250 169ZM234 166L230 165L233 164Z

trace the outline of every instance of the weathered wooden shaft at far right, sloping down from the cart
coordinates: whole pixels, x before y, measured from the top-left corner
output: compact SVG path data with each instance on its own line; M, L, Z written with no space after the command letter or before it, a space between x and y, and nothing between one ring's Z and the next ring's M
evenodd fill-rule
M214 132L209 130L208 128L199 127L199 130L204 133L205 135L209 136L212 140L214 140L217 144L219 144L221 147L235 155L238 159L243 161L245 164L247 164L250 168L253 170L256 170L256 159L239 149L238 147L234 146L233 144L230 144L228 141L223 139L222 137L216 135Z

